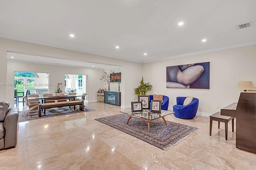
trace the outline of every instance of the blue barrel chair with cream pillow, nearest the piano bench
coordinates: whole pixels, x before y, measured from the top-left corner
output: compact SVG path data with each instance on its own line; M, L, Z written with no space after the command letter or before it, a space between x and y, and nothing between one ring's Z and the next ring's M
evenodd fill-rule
M173 111L174 116L182 119L193 119L196 116L198 109L199 100L194 98L191 103L186 106L183 106L186 97L177 97L177 105L174 105Z

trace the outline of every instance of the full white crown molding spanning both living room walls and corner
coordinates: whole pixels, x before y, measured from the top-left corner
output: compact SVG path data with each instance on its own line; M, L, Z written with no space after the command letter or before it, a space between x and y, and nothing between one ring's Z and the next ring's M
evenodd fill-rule
M105 54L105 53L94 53L92 51L85 51L85 50L79 49L79 48L67 47L67 46L64 46L64 45L56 45L56 44L53 44L53 43L47 43L47 42L32 40L32 39L28 39L28 38L21 38L21 37L17 37L17 36L10 36L10 35L1 34L1 33L0 33L0 38L7 38L7 39L10 39L10 40L17 40L17 41L28 42L28 43L35 43L35 44L39 44L39 45L46 45L46 46L49 46L49 47L56 47L56 48L67 49L67 50L72 50L72 51L78 51L78 52L82 52L82 53L100 55L102 57L110 57L110 58L115 58L115 59L120 59L120 60L125 60L125 61L132 61L132 62L136 62L136 63L150 63L150 62L154 62L154 61L162 61L162 60L179 58L179 57L187 57L187 56L190 56L190 55L209 53L209 52L214 52L214 51L221 51L221 50L224 50L224 49L232 49L232 48L244 47L244 46L255 45L256 44L256 41L246 42L246 43L240 43L240 44L235 44L235 45L228 45L228 46L225 46L225 47L218 47L218 48L206 49L206 50L202 50L202 51L195 51L195 52L192 52L192 53L185 53L185 54L181 54L181 55L173 55L171 57L164 57L164 58L140 61L140 60L122 58L122 57L118 57L118 56L114 56L114 55L110 56L110 55Z

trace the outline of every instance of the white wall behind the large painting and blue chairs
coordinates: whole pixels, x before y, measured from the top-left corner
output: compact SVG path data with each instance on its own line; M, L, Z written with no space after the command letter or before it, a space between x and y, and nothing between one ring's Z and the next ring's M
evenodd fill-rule
M210 89L168 89L166 88L166 67L210 61ZM152 93L167 95L169 107L176 104L177 96L193 96L199 99L198 112L216 113L238 101L241 90L238 81L252 81L256 84L256 45L226 49L210 53L191 55L145 63L144 82L153 86Z

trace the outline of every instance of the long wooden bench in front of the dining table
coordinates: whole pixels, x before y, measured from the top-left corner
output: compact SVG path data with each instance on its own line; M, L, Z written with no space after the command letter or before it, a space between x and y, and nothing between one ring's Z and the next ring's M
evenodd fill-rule
M63 102L55 102L55 103L42 103L38 105L38 116L42 116L42 109L45 110L54 107L64 107L64 106L74 106L74 110L76 110L76 105L79 105L80 111L84 111L84 101L76 100L76 101L63 101Z

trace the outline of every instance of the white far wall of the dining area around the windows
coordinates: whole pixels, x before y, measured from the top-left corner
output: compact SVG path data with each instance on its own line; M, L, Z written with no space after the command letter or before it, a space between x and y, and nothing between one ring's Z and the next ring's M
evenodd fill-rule
M52 86L50 86L50 93L52 94L55 94L54 92L57 89L58 83L62 83L62 85L60 85L60 88L62 89L62 91L64 91L65 73L88 75L88 95L86 96L88 98L86 98L86 100L88 100L89 102L96 101L96 92L99 88L103 88L103 84L99 80L99 77L103 71L102 69L7 61L7 83L14 82L14 70L50 73L50 83L52 84ZM11 105L13 105L14 87L7 87L7 93L7 101L9 101Z

